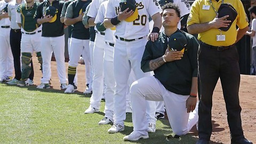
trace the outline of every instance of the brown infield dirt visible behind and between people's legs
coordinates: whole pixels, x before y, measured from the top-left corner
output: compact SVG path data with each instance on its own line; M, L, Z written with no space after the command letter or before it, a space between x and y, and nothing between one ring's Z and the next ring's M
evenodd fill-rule
M39 63L34 55L34 69L35 78L34 83L39 85L42 73L39 71ZM68 63L66 62L66 70ZM85 90L85 66L78 65L78 91L83 92ZM60 90L59 78L57 75L56 62L52 61L52 89ZM242 125L244 135L252 142L256 142L256 76L241 75L241 85L239 90L239 98L242 107ZM212 123L213 133L210 143L230 143L229 127L227 124L227 115L225 101L223 99L220 81L213 93L213 107L212 107ZM194 127L190 132L197 135L197 131Z

